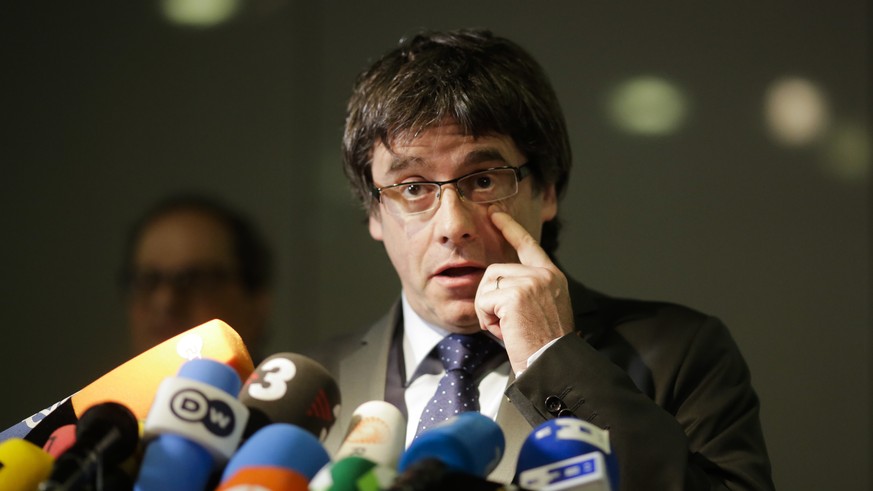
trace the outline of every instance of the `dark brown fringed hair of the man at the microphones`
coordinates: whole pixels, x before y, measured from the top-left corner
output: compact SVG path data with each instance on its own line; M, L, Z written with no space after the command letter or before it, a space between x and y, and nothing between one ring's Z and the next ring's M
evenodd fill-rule
M542 67L520 46L487 30L423 32L400 44L354 85L346 111L343 160L353 192L369 212L372 154L449 118L466 135L512 138L534 164L534 189L554 184L560 198L571 165L557 96ZM544 224L542 247L558 246L557 217Z

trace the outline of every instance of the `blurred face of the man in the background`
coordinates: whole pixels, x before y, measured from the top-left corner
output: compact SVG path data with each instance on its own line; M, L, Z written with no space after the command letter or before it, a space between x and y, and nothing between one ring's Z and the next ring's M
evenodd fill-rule
M212 319L253 343L267 315L266 294L245 290L227 229L197 210L177 210L146 226L133 256L128 322L133 349L145 351Z

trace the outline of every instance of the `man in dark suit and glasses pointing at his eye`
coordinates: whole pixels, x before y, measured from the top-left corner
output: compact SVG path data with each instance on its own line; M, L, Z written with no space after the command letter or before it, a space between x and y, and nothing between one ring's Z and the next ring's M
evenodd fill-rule
M550 83L520 47L487 31L402 41L359 76L343 149L402 294L367 331L313 353L339 379L338 427L384 399L407 414L411 441L448 377L434 354L458 338L482 358L464 375L467 409L507 439L493 479L512 478L533 427L576 416L608 429L621 489L773 487L758 399L727 329L678 305L597 293L556 265L570 147ZM481 354L483 332L494 356Z

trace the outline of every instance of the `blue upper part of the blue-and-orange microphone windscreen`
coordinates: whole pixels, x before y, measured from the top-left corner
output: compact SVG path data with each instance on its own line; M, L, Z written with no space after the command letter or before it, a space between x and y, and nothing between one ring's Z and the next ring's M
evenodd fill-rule
M315 436L288 423L273 423L256 431L231 457L222 484L243 469L275 467L293 471L309 482L330 456Z

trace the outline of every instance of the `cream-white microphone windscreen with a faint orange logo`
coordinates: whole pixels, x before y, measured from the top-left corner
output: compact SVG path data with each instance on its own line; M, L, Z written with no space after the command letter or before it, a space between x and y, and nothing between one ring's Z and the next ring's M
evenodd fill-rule
M393 404L369 401L352 413L345 439L334 460L363 457L371 462L396 468L406 442L406 418Z

